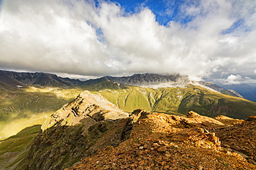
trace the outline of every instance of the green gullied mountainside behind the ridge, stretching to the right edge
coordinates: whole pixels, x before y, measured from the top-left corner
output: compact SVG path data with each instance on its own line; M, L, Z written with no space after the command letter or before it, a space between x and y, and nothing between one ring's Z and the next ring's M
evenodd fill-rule
M193 110L205 116L226 115L232 118L247 118L256 115L256 103L211 92L194 85L187 88L143 88L104 89L99 91L111 103L124 111L143 108L148 111L186 114Z

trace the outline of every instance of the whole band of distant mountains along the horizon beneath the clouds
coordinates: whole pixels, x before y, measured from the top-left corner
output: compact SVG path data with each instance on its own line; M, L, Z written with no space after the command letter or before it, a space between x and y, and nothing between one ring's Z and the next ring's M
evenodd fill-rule
M216 85L211 82L196 82L190 81L188 76L183 76L181 74L134 74L132 76L123 77L113 77L104 76L102 78L96 78L86 81L80 81L79 79L62 78L55 74L47 74L42 72L9 72L0 70L0 86L7 87L10 85L13 87L21 86L40 86L40 87L77 87L77 86L87 86L91 87L95 83L100 81L109 80L111 82L116 82L110 88L124 87L125 85L140 86L140 87L152 87L157 89L159 87L186 87L188 84L201 85L204 88L208 88L214 92L221 92L222 94L228 94L230 96L244 97L248 100L256 100L256 87L247 85L245 83L240 85ZM119 83L119 84L118 84ZM105 86L105 87L104 87ZM94 89L104 89L108 85L102 87L94 87ZM10 87L9 87L10 88Z

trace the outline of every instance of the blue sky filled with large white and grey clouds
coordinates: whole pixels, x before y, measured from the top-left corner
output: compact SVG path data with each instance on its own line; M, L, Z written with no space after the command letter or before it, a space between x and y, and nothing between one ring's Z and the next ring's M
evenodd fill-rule
M0 70L256 85L256 1L0 0Z

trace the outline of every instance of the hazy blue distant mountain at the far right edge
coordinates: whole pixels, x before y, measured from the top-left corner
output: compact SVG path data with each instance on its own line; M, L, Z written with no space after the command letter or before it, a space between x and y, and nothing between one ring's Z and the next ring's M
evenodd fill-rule
M241 96L244 96L244 98L256 102L256 87L253 85L241 83L237 85L221 85L221 86L225 87L226 89L233 89L239 94L241 94Z

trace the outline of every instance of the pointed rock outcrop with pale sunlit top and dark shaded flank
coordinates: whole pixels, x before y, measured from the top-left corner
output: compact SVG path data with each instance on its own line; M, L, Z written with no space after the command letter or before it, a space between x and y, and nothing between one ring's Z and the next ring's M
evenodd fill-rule
M42 125L23 169L64 169L125 138L129 114L100 94L82 92Z

